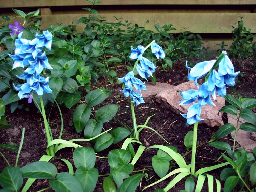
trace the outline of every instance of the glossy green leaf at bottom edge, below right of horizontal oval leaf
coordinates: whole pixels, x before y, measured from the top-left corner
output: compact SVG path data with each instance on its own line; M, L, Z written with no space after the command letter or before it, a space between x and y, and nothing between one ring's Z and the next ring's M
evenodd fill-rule
M49 184L56 192L83 192L83 188L79 181L73 175L67 172L59 173L56 177L56 180L51 179Z

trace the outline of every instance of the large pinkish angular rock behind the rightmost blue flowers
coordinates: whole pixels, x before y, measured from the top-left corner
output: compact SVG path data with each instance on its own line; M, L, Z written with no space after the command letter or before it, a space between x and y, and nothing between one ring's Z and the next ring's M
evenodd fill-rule
M176 114L187 114L188 108L193 104L179 106L182 99L179 90L186 91L189 89L198 89L194 81L182 83L167 89L156 95L156 101L162 103L167 108L170 108ZM213 99L212 99L213 101ZM222 113L218 115L218 111L225 105L225 99L217 95L216 100L213 101L216 106L205 105L202 107L200 118L204 119L199 123L205 123L209 127L221 127L223 125Z

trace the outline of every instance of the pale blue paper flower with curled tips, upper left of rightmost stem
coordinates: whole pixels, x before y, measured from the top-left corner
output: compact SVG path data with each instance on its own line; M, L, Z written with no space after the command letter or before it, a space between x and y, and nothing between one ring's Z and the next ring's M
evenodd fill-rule
M203 61L203 62L197 63L193 68L188 67L187 61L186 61L186 67L190 70L190 73L188 74L188 80L194 80L196 86L199 88L197 84L197 79L207 74L212 69L215 61L216 60Z

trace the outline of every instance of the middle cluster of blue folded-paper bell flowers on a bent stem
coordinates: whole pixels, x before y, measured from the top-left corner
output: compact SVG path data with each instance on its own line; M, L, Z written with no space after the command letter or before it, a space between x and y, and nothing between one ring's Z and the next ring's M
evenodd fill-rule
M145 50L146 48L142 45L139 45L136 49L131 47L131 55L129 57L131 59L138 59L140 61L140 63L136 65L136 70L140 77L147 80L148 77L152 77L152 73L155 72L156 67L150 60L142 56ZM151 50L152 53L156 55L157 59L159 59L159 57L165 58L163 49L157 45L157 43L152 43ZM132 103L136 103L136 106L140 103L145 103L142 98L142 94L140 94L141 90L147 89L145 82L142 82L140 79L134 77L133 71L130 71L122 78L118 78L118 80L125 83L125 88L120 90L120 92L124 93L125 97L132 98ZM138 92L133 90L132 85Z

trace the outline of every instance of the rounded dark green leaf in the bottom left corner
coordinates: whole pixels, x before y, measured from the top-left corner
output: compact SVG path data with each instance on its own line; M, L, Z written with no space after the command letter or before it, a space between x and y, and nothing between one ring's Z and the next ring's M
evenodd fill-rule
M11 187L14 191L19 191L22 186L22 172L18 167L5 167L0 175L0 184L2 187Z

